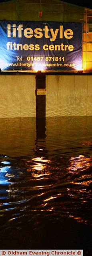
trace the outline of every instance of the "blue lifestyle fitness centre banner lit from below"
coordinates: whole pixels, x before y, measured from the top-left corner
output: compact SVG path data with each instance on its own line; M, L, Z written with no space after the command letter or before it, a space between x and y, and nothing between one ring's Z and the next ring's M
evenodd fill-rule
M1 70L82 70L82 23L0 21Z

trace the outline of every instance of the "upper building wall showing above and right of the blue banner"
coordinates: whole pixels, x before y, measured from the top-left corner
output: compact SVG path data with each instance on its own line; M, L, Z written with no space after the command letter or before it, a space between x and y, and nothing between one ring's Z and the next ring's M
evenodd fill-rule
M39 17L42 11L42 18ZM0 3L0 20L43 20L83 23L83 69L92 70L92 10L59 0L14 0Z

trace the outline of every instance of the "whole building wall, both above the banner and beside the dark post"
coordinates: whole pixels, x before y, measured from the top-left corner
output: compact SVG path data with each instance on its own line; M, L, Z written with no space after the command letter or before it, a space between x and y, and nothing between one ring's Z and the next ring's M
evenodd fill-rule
M42 11L42 18L39 17ZM83 23L83 69L92 71L92 11L59 0L0 3L0 20ZM46 116L92 115L92 76L47 76ZM0 76L0 118L36 116L35 76Z

